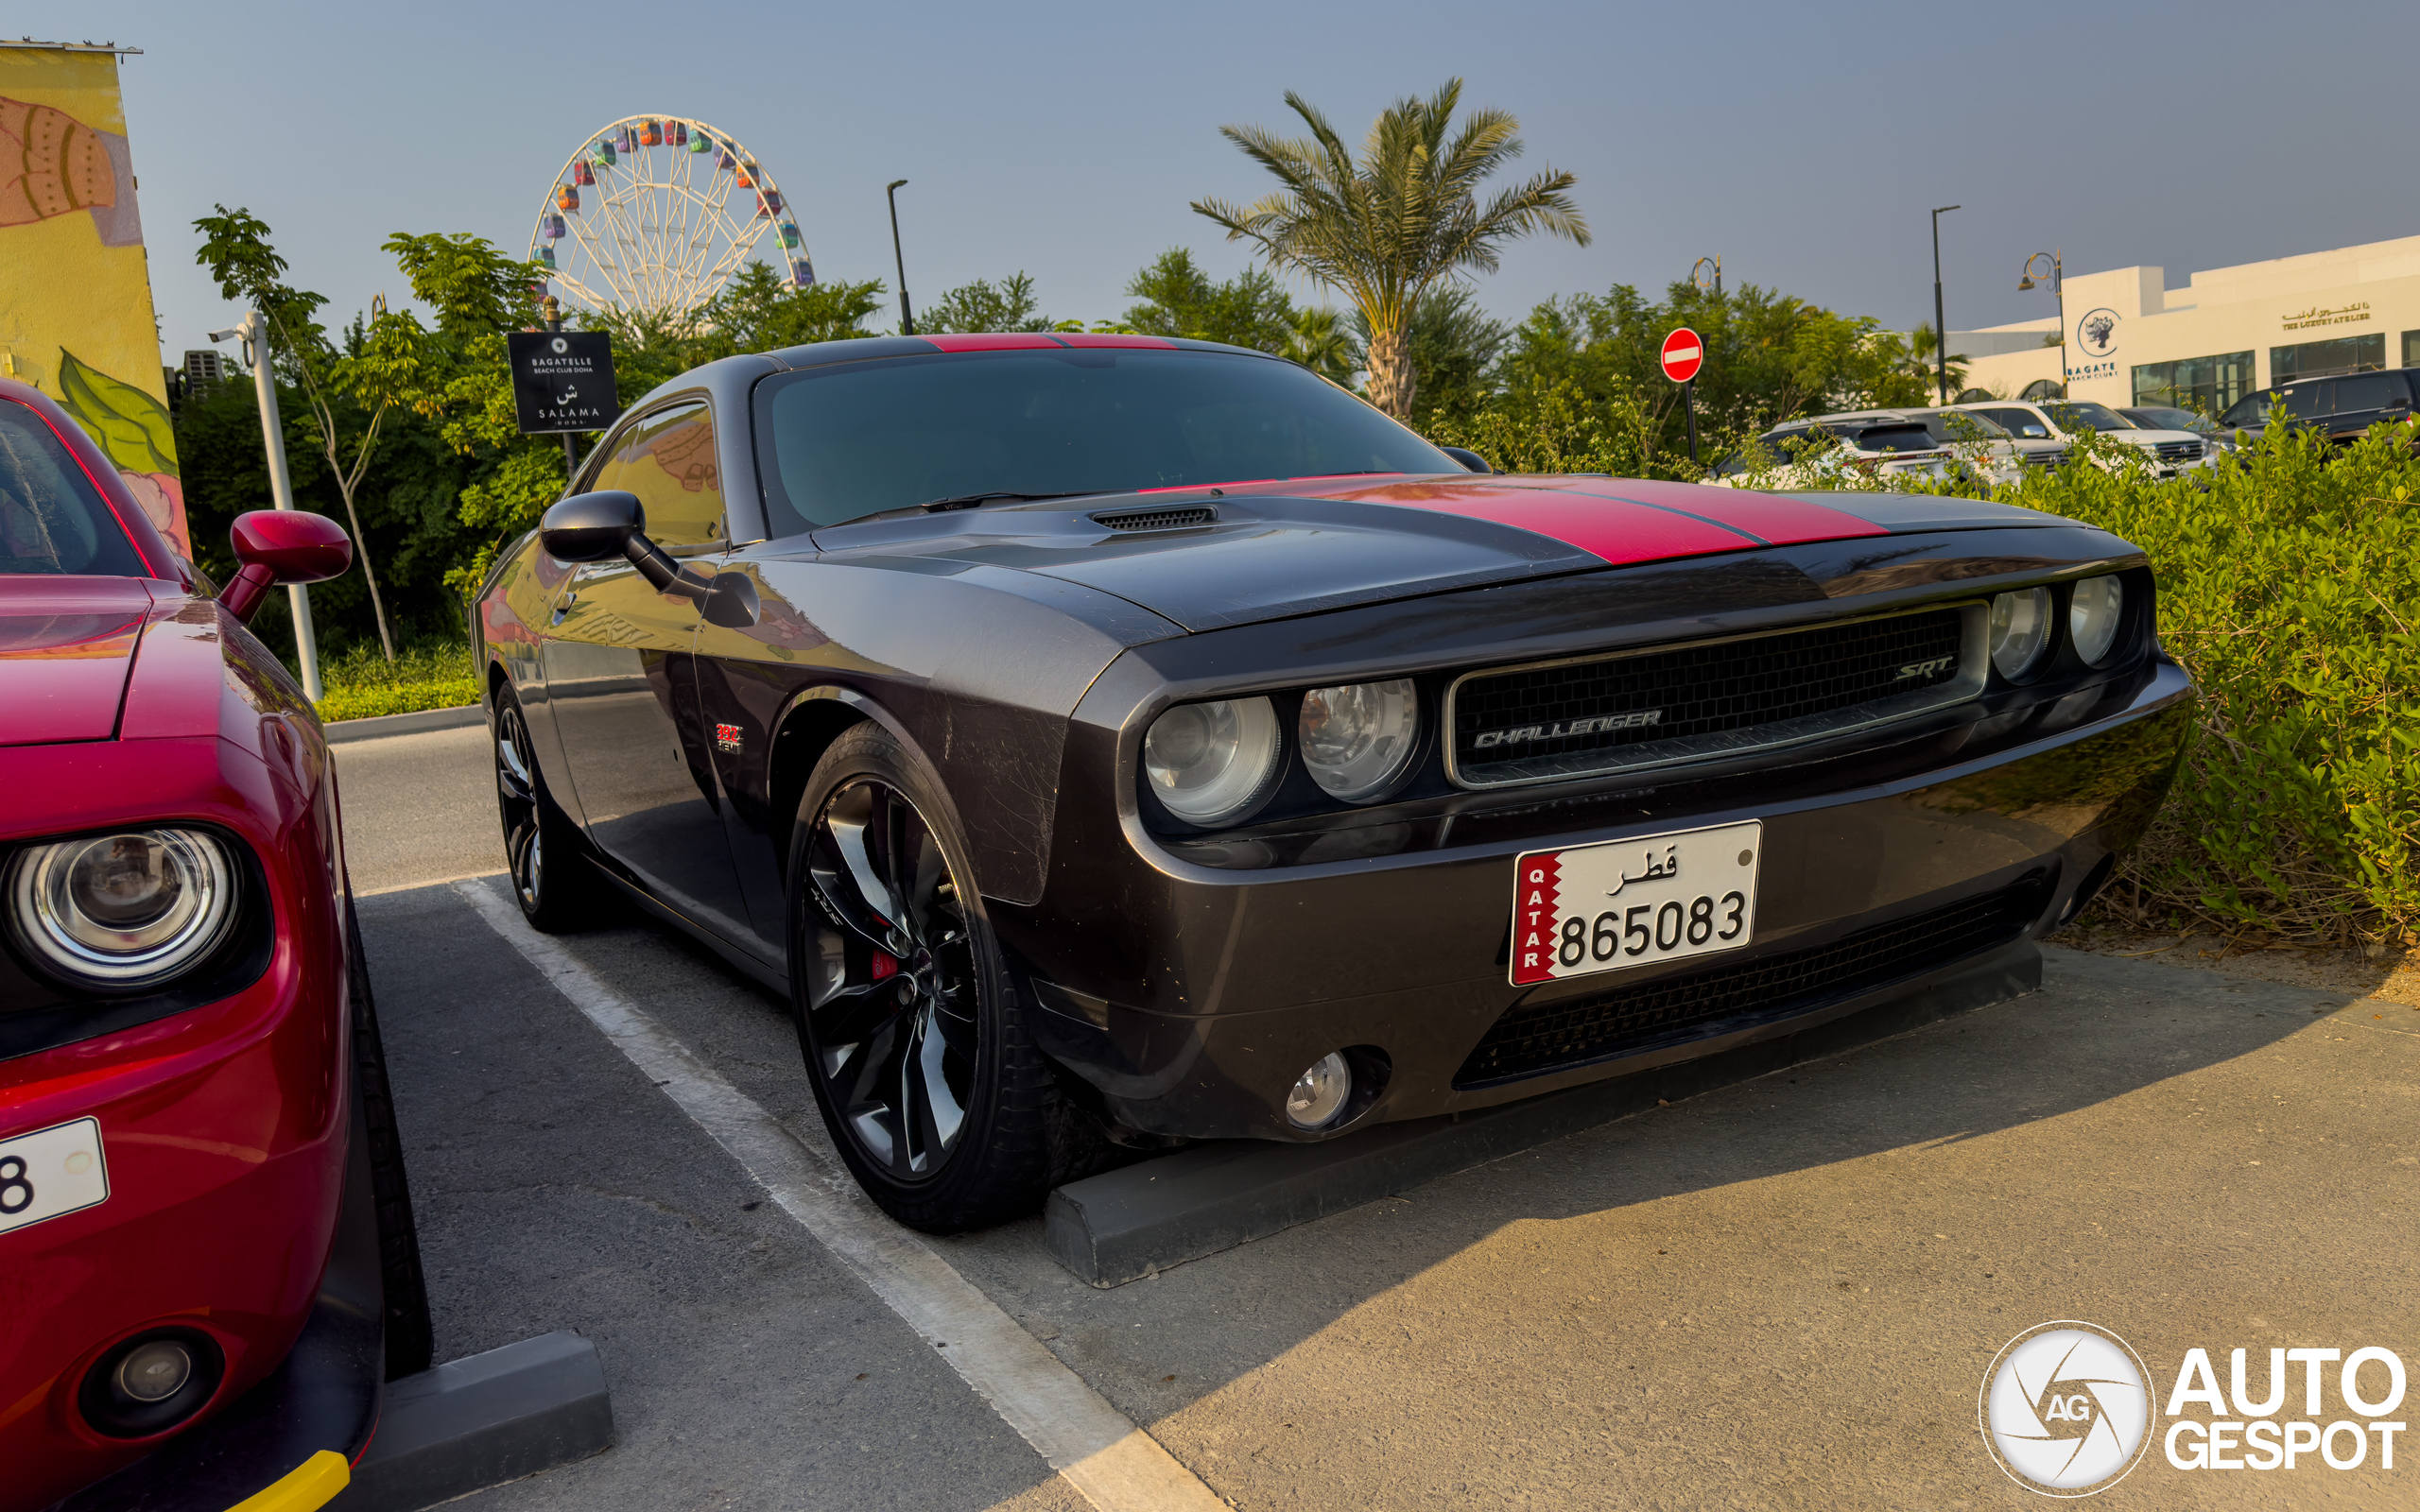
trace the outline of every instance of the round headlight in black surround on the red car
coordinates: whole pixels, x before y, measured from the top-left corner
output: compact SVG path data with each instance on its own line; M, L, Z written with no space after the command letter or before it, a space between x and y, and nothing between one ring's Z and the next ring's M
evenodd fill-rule
M203 960L235 922L235 866L211 835L121 830L19 849L7 924L60 977L133 992Z

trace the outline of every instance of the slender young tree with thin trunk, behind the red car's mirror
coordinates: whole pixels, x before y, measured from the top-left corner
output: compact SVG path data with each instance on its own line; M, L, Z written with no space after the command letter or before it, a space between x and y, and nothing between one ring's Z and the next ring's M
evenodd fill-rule
M329 474L344 498L344 518L353 527L353 554L361 561L361 581L370 588L378 644L387 660L394 660L394 631L378 595L370 537L361 527L356 496L361 479L370 472L370 457L378 452L378 431L385 426L387 411L419 387L426 331L411 314L390 312L380 300L373 305L373 317L356 319L346 344L334 346L327 329L312 319L327 300L281 283L286 259L269 244L269 225L244 208L215 206L215 210L218 215L203 215L194 223L194 230L203 235L194 261L211 269L220 295L261 312L269 322L271 351L300 380ZM261 353L261 360L271 360L271 353Z

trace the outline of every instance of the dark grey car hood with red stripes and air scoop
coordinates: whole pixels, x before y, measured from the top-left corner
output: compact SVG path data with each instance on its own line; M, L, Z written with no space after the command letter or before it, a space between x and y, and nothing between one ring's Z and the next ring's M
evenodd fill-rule
M1128 527L1104 527L1104 520ZM1031 503L862 520L818 530L816 547L828 561L864 566L949 573L980 564L1043 573L1200 631L1544 573L1900 530L2040 523L2050 515L1965 498L1786 496L1609 477L1392 474L1118 494L1084 498L1079 508Z

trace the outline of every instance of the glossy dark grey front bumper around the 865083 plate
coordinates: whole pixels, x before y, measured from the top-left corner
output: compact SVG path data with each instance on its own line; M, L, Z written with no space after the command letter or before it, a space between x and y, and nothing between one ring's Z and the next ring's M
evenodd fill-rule
M1670 779L1428 827L1333 830L1285 854L1292 866L1205 866L1137 832L1128 839L1150 878L1123 878L1116 898L1082 905L1062 895L1053 910L1045 898L1050 917L1012 912L995 924L1041 1004L1043 1048L1116 1123L1174 1137L1331 1137L1796 1033L2021 946L2081 907L2142 837L2190 738L2190 711L2185 673L2151 660L2093 689L1970 714L1902 748L1767 781ZM1539 815L1558 808L1571 827L1539 835ZM1517 854L1747 818L1764 820L1752 946L1508 985ZM1091 849L1099 856L1101 842ZM1263 849L1278 856L1283 844ZM1101 868L1074 859L1062 876L1084 871L1099 883ZM1936 919L1965 924L1926 934ZM1653 982L1696 992L1682 980L1832 960L1861 941L1871 946L1861 970L1800 977L1779 997L1750 992L1745 1006L1735 997L1738 1011L1718 1018L1512 1077L1474 1060L1515 1009L1590 1011L1592 999ZM1338 1125L1297 1130L1285 1091L1348 1048L1382 1067L1384 1089Z

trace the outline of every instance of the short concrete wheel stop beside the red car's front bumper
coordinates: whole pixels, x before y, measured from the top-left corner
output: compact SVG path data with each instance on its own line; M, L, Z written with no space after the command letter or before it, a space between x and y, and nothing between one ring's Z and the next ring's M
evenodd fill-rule
M542 1333L387 1384L346 1512L419 1512L612 1447L598 1350Z

